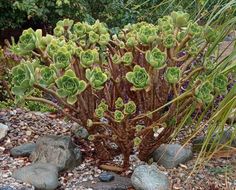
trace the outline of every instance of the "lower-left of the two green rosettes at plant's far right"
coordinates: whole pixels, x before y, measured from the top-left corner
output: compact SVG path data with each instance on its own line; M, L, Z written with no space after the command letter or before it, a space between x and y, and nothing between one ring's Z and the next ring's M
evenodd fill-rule
M206 81L196 88L195 96L200 102L210 103L214 98L211 94L212 91L213 85L209 81Z

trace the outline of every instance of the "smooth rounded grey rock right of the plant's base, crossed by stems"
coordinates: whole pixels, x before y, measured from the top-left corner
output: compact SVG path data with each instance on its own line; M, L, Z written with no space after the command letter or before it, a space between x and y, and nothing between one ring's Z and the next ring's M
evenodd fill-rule
M192 150L179 144L161 145L153 152L153 160L165 168L174 168L192 158Z

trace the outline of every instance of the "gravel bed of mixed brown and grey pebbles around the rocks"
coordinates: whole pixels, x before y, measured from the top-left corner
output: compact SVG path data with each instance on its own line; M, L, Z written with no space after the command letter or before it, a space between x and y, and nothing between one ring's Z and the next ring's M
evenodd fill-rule
M34 189L29 184L22 183L11 177L12 171L16 168L30 164L27 157L12 158L9 150L17 145L35 142L39 136L45 134L71 135L70 129L73 125L62 119L55 118L52 114L42 114L38 112L29 112L23 109L0 110L0 123L9 126L10 130L4 141L0 142L0 189L2 186L11 186L19 190ZM83 147L81 147L83 151ZM158 166L160 170L166 173L170 179L172 189L176 190L236 190L236 155L229 158L217 158L209 161L203 168L191 173L197 155L187 162L174 169L165 169ZM114 159L114 162L121 163L120 156ZM142 164L138 158L133 155L130 158L131 167L127 171L130 176L134 167ZM71 171L60 174L60 190L92 190L84 188L81 184L86 181L95 183L95 178L103 172L96 165L93 157L87 156L84 162Z

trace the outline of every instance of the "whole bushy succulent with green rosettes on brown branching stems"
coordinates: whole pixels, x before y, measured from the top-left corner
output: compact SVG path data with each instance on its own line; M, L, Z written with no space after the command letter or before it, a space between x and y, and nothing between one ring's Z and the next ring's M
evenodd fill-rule
M65 19L54 35L28 29L13 43L11 50L24 60L12 70L12 91L61 110L87 128L101 160L122 154L127 168L134 149L147 160L190 110L205 109L226 92L227 76L214 72L217 64L206 54L216 38L214 29L183 12L158 25L127 25L113 36L99 21ZM57 104L32 96L33 89L53 95Z

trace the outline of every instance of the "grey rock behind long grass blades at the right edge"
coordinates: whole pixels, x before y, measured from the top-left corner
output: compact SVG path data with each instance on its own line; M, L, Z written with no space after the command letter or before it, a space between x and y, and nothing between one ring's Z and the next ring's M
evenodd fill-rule
M211 140L208 143L207 150L210 149L212 143L218 142L218 144L226 144L228 141L231 141L230 146L236 147L236 129L229 128L223 132L216 132L212 135ZM196 137L193 139L193 151L200 151L205 140L205 136Z

